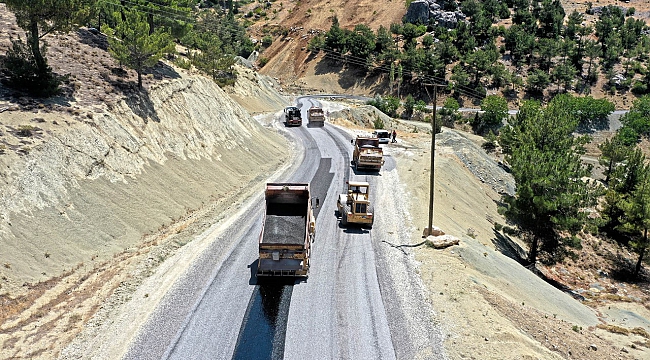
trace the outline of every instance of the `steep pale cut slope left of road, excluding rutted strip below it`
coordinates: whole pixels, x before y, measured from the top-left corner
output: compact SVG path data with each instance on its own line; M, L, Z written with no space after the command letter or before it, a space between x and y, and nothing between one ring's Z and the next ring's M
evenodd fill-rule
M12 292L138 245L277 168L269 159L286 148L213 82L190 76L44 137L26 155L0 157L0 263Z

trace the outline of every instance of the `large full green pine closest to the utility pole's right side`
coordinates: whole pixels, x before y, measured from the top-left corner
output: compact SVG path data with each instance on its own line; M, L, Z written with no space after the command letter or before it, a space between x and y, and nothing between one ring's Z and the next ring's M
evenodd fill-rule
M540 247L559 246L558 231L573 234L582 228L582 209L593 197L581 178L591 169L580 160L588 139L573 135L577 119L553 101L545 109L525 103L522 110L500 138L517 185L515 196L504 202L506 216L526 234L528 260L535 263Z

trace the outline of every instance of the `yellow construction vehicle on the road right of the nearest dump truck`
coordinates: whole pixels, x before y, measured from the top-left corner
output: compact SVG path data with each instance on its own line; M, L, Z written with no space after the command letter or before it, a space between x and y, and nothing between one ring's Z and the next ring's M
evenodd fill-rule
M375 220L370 204L370 184L365 181L348 181L348 191L340 194L336 207L341 216L341 225L361 224L372 228Z

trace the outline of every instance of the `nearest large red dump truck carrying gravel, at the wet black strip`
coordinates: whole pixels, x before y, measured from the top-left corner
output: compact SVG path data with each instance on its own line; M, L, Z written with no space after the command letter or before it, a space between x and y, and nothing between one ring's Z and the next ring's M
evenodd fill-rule
M316 223L309 184L268 183L257 276L307 277Z

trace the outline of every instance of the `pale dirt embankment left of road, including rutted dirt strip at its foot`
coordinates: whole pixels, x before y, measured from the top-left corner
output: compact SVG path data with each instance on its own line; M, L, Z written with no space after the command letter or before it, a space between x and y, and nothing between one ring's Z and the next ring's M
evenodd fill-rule
M267 98L247 103L283 106ZM0 108L1 358L57 356L289 158L276 130L181 72L110 109Z

